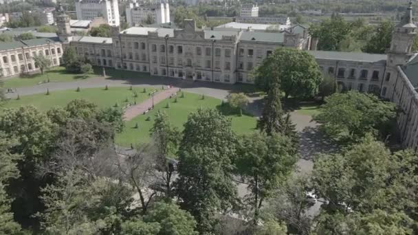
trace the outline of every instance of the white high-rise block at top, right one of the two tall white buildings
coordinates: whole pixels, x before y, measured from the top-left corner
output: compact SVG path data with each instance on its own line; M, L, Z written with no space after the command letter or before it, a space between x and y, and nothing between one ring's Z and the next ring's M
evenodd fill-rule
M133 2L126 6L126 22L129 26L140 25L148 18L153 20L152 23L169 23L170 6L168 2L153 5L140 5Z

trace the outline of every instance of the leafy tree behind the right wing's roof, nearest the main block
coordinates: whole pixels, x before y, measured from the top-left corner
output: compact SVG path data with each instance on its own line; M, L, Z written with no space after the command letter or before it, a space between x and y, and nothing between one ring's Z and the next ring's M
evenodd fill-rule
M309 32L313 38L318 38L318 49L324 51L340 50L340 43L351 32L349 23L339 14L332 14L318 25L311 25Z

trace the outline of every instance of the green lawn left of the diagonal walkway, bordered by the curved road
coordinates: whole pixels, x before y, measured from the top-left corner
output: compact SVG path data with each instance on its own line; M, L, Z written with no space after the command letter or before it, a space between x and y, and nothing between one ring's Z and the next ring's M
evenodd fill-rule
M148 98L148 92L151 91L151 87L146 88L146 93L142 93L144 88L133 87L130 91L129 87L109 87L108 90L102 88L88 88L81 89L80 91L65 90L65 91L50 91L50 95L45 93L36 94L31 96L21 96L20 100L9 100L5 103L4 107L19 107L22 105L32 104L39 109L46 111L52 107L65 106L68 102L75 99L85 99L90 102L94 102L100 108L111 107L118 103L119 107L125 106L126 98L129 103L133 103L135 98L133 97L133 91L137 92L138 97L136 102L140 103Z

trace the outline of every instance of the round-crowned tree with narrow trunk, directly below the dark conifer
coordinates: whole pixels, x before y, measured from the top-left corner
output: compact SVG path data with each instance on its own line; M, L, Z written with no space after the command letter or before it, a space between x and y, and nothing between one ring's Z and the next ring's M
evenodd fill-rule
M254 133L241 139L236 168L252 192L246 201L254 210L254 225L259 222L263 201L272 197L279 183L294 170L294 153L291 140L277 133Z

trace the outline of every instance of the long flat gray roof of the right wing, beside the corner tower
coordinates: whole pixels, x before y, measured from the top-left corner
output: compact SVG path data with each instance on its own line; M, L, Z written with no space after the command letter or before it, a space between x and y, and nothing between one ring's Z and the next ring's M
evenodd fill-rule
M317 59L325 60L349 60L358 62L376 63L386 61L386 54L367 54L362 52L327 52L327 51L307 51Z

